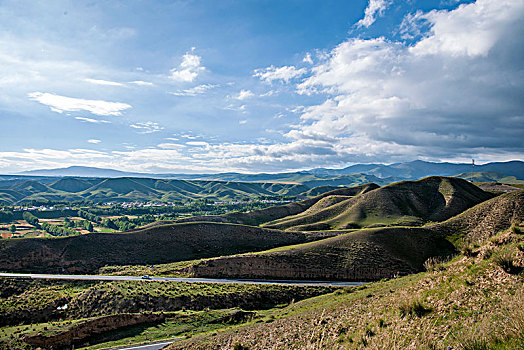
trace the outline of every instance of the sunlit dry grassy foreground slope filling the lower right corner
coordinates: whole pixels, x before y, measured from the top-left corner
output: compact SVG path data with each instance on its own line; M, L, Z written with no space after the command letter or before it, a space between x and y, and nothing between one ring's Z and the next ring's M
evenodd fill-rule
M427 272L304 300L169 350L522 349L522 230L491 236L468 256L428 263Z

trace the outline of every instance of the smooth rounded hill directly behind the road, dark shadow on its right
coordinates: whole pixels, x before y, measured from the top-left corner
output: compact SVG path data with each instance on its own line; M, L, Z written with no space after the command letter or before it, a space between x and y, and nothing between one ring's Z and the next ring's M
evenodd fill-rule
M199 277L368 281L418 272L454 246L420 228L369 229L256 254L204 260L182 271Z

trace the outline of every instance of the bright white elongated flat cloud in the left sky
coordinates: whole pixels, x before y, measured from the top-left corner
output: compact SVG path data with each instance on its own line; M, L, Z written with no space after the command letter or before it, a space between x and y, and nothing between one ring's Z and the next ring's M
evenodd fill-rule
M88 111L96 115L122 115L122 111L131 108L131 105L120 102L102 100L85 100L50 94L47 92L31 92L27 94L31 100L40 102L57 113Z

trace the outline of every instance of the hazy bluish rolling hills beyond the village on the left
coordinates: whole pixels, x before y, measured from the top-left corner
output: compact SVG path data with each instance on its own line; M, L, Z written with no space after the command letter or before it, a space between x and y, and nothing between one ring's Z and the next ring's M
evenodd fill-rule
M0 179L0 204L36 201L125 202L208 199L241 200L259 196L298 196L311 188L296 183L161 180L148 178ZM328 190L327 188L325 189ZM317 190L322 193L321 190Z

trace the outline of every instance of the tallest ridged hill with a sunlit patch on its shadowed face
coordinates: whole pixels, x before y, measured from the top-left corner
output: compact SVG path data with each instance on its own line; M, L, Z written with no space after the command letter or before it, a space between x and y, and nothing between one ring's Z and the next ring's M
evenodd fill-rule
M332 205L267 223L275 229L328 230L442 221L492 195L457 178L428 177L377 188ZM339 198L340 199L340 198Z

